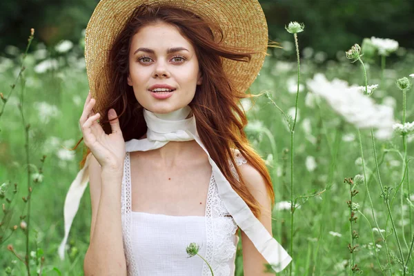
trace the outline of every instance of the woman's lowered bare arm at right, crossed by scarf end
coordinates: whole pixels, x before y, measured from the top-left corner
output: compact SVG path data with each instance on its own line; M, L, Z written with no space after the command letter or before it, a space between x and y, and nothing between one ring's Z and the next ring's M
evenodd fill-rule
M268 196L266 185L262 175L250 164L242 164L239 166L240 177L246 183L248 190L253 197L262 206L259 221L262 222L268 233L272 235L272 219L271 219L271 201ZM273 235L272 235L273 236ZM242 231L242 248L243 248L243 270L244 276L270 276L275 273L264 273L266 259L259 253L255 245L250 241L247 235Z

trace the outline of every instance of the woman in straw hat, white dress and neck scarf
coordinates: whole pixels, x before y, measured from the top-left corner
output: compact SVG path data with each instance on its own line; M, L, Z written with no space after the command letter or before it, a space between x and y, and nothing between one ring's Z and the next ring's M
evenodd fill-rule
M61 257L90 181L85 275L234 275L238 228L244 275L290 263L238 106L266 48L256 0L99 2L79 120L88 151L66 197ZM205 260L188 258L191 242Z

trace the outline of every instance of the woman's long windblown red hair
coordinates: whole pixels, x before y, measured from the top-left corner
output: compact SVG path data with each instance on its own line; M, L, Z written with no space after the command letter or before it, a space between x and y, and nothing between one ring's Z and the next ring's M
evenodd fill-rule
M101 121L99 124L107 134L111 132L108 110L114 108L119 115L119 123L125 141L139 139L146 133L143 108L135 98L132 87L127 83L128 57L132 36L140 28L157 22L176 26L181 35L193 43L203 82L197 86L195 97L189 106L197 119L199 137L230 185L258 218L261 214L261 207L246 187L243 179L240 178L237 181L231 173L230 164L228 164L228 159L230 159L237 174L240 175L231 148L239 149L248 163L262 175L272 206L275 204L275 195L268 169L262 157L255 152L246 138L244 126L247 124L247 119L244 110L239 105L240 99L255 95L246 95L245 91L239 91L237 87L232 86L224 72L222 59L249 62L251 55L259 52L251 49L242 49L244 52L240 52L239 48L232 49L223 46L220 42L224 39L224 34L216 23L201 19L193 12L173 6L162 5L155 8L144 4L137 7L110 49L108 56L110 89L106 95L106 102L100 110ZM219 41L215 41L217 37L214 37L212 30L216 30L220 34ZM266 52L262 54L267 55ZM99 87L95 89L99 90ZM82 139L72 150L77 148ZM86 155L89 153L90 150L85 147L80 166L85 164Z

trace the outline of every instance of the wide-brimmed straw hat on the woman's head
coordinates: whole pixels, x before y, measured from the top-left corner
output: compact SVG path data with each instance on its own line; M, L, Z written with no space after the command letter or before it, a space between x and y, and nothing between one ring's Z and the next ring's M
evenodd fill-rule
M102 112L108 79L108 50L124 24L142 3L170 4L190 10L201 18L218 23L226 37L225 46L250 48L261 53L250 62L224 59L224 71L237 90L246 91L263 66L268 43L268 27L257 0L101 0L86 28L86 72L92 97L97 100L95 111ZM98 82L98 83L97 83ZM99 85L98 91L95 84Z

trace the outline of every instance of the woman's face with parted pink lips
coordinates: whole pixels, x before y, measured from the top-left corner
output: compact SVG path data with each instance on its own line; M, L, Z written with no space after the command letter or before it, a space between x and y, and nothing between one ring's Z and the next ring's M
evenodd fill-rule
M132 37L129 71L128 85L134 89L137 101L161 114L187 106L202 81L193 46L167 23L145 26ZM159 84L175 90L152 92L152 87Z

